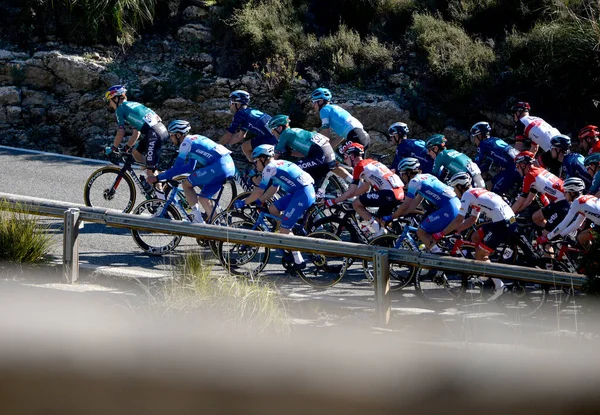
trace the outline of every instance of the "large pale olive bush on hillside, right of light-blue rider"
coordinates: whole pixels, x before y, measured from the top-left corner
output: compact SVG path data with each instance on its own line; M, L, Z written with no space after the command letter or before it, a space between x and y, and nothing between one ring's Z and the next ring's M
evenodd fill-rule
M426 14L415 14L411 31L439 86L448 99L471 94L472 89L489 79L496 61L494 51L473 40L456 24Z

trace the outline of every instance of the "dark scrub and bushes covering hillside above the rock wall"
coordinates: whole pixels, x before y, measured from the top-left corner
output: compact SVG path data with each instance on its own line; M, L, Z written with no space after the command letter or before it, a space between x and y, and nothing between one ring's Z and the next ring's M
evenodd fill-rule
M528 100L566 131L597 123L600 5L589 0L25 0L20 30L126 47L174 32L195 3L212 7L222 76L254 69L283 91L299 77L386 88L405 71L405 105L460 117Z

